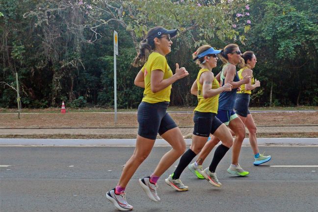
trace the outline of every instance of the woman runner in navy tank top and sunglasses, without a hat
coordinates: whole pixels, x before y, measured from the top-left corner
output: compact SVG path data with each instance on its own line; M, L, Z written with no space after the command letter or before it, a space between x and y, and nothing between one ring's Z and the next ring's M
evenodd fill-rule
M245 127L244 123L238 118L237 114L234 112L233 107L235 103L235 96L237 95L237 89L243 83L250 82L250 76L243 75L244 79L239 80L236 65L241 60L241 52L236 44L229 44L222 52L219 54L220 59L222 60L224 67L222 71L216 75L216 79L220 79L221 85L226 82L231 83L233 90L231 92L223 92L219 96L219 108L217 111L216 117L223 123L228 124L229 128L235 133L236 137L233 142L232 148L232 164L227 169L227 172L230 174L236 174L239 176L246 176L249 174L248 171L245 171L239 164L238 158L241 149L241 145L245 138ZM230 110L227 110L230 107ZM205 146L202 148L198 159L196 160L197 164L202 165L203 161L208 157L209 153L212 151L214 146L220 142L220 139L217 136L212 136L211 140L206 142ZM198 178L199 176L196 175Z

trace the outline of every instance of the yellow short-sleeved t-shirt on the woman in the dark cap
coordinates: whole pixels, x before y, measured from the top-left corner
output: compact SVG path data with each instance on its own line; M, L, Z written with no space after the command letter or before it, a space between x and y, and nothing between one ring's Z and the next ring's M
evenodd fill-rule
M159 103L159 102L170 102L170 93L171 85L160 90L157 93L151 91L150 81L151 81L151 72L153 70L163 71L163 79L168 79L172 77L173 73L167 63L166 58L159 53L151 53L148 57L147 62L141 68L141 71L144 73L145 78L145 90L144 97L142 102L147 103Z

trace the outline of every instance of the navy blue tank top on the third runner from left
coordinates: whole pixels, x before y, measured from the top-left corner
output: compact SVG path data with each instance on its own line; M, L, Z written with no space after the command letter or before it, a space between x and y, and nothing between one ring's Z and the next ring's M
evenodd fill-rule
M225 84L225 77L223 75L223 71L224 71L225 67L230 65L230 64L231 63L226 63L222 68L222 72L221 72L221 76L220 76L220 79L222 80L222 86L224 86L224 84ZM235 82L239 81L238 72L236 72L236 75L234 76L233 81L235 81ZM229 91L229 92L226 91L226 92L220 93L218 109L233 110L237 90L238 90L238 88L233 88L232 91Z

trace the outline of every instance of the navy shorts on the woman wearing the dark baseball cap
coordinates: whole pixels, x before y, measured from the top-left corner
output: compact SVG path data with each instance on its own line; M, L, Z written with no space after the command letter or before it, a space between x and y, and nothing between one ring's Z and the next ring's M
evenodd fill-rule
M169 102L141 102L137 112L139 123L138 135L155 140L158 133L161 135L168 130L178 127L166 112L168 106Z

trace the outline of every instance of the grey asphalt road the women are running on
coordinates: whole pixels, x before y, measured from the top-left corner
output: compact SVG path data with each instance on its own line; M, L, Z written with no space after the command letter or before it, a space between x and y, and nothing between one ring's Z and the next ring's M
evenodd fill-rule
M134 174L126 189L133 211L318 212L318 146L260 147L261 152L273 157L263 166L253 166L251 148L242 147L240 164L250 171L248 177L226 172L230 151L216 170L221 188L197 180L185 170L181 179L189 190L174 191L164 183L175 169L172 166L159 179L161 202L156 203L148 199L137 179L150 175L169 149L154 147ZM133 150L134 147L1 146L0 212L116 212L105 193L117 184L122 165ZM204 166L211 160L212 154Z

